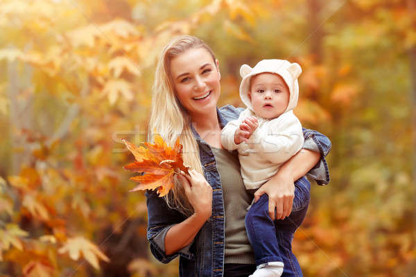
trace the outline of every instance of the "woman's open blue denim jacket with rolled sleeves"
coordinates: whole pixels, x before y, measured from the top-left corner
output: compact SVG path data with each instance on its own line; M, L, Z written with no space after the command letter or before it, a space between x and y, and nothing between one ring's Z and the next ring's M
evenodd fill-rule
M231 105L217 109L221 127L224 127L228 121L239 118L241 111L243 111L243 108L236 108ZM158 197L155 191L148 190L145 194L148 208L147 239L150 242L150 251L160 262L168 263L173 258L180 256L180 276L220 277L223 276L225 247L223 190L211 148L200 138L192 126L191 129L198 142L205 179L207 179L213 190L212 215L202 226L191 244L168 256L164 251L165 235L171 226L184 221L186 217L180 212L168 208L164 199ZM320 161L309 171L308 175L320 185L328 184L329 170L324 157L327 156L331 149L331 142L319 132L310 129L303 129L303 132L305 139L303 148L314 150L321 154Z

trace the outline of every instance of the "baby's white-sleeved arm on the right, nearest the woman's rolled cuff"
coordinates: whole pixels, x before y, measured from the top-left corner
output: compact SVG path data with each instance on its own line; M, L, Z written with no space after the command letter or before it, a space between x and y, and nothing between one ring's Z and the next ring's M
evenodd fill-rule
M300 121L295 116L281 119L272 120L267 136L261 139L261 152L272 163L291 159L304 143Z

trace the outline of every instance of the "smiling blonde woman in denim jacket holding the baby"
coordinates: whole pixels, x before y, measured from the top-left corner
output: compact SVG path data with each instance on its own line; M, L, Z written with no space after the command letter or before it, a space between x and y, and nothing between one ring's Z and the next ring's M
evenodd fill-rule
M220 143L221 129L243 109L216 107L218 66L214 53L200 39L180 36L165 46L155 74L149 140L153 132L171 144L180 136L184 163L193 170L191 177L177 178L165 199L146 192L147 236L161 262L180 255L180 276L248 276L255 270L244 226L245 208L252 199L245 193L238 157ZM282 220L293 206L309 203L309 187L302 195L294 193L294 181L309 170L318 184L329 181L324 161L329 140L311 130L305 130L304 136L304 148L254 195L256 199L268 195L272 219ZM305 180L296 183L309 186ZM293 267L288 269L302 276L295 257L289 258Z

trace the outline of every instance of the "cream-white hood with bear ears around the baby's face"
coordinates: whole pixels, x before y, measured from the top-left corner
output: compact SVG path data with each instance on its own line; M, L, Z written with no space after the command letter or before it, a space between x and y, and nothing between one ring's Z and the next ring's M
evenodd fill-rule
M240 84L240 98L243 103L253 111L248 92L250 91L250 79L259 73L276 73L283 78L289 88L289 103L286 111L291 111L297 105L299 97L299 84L297 78L302 73L302 68L296 62L291 63L287 60L261 60L251 68L247 64L243 64L240 68L240 75L243 78ZM286 112L285 111L285 112Z

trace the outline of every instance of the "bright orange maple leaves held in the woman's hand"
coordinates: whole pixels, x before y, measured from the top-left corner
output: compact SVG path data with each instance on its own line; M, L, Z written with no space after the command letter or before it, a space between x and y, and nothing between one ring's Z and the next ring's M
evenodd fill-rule
M137 147L123 139L123 143L135 156L136 161L124 166L125 170L141 172L143 175L131 177L130 180L139 183L130 192L136 190L155 190L159 197L163 197L173 188L173 175L181 170L189 175L189 168L184 166L182 145L179 138L173 148L168 146L162 136L155 135L155 143L144 143L146 148Z

